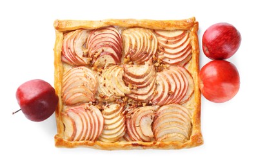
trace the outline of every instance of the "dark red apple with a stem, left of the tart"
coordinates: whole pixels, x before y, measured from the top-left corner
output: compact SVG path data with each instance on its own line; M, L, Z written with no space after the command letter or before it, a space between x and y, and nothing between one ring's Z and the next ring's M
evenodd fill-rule
M26 118L36 122L49 118L59 100L55 89L48 82L39 79L20 85L16 98Z

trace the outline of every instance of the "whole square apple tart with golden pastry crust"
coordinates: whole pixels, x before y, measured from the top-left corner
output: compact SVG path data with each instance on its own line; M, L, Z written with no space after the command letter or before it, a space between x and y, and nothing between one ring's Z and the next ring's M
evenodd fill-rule
M55 146L103 150L202 145L199 24L56 20Z

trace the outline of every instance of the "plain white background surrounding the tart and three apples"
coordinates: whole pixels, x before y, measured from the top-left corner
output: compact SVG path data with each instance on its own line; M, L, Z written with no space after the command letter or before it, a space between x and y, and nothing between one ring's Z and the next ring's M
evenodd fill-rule
M253 1L251 1L253 2ZM246 1L1 1L0 2L0 166L256 166L255 8ZM228 59L241 76L232 100L202 97L204 145L184 150L103 151L55 148L55 116L35 123L19 109L15 91L27 80L54 85L55 19L186 19L199 21L202 34L217 22L242 35ZM210 61L202 53L201 67Z

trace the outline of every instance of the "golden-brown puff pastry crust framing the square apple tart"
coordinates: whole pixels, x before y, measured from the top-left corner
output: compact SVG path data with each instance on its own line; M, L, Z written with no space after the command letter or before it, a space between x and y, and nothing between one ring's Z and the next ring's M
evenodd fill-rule
M64 130L67 127L65 127L64 125L62 113L64 112L64 110L66 110L67 105L63 100L63 76L66 73L66 71L68 71L68 69L77 67L77 65L75 64L66 65L66 62L63 62L62 56L63 56L64 37L66 33L69 33L75 30L93 31L93 30L96 30L99 28L105 28L108 26L113 26L117 28L117 30L119 30L120 33L123 33L124 30L128 30L129 28L144 28L146 30L153 31L154 33L157 33L157 31L162 31L162 30L166 30L166 31L184 30L186 31L186 33L188 33L189 47L191 49L191 53L190 53L191 57L188 59L186 64L179 64L179 66L184 66L184 68L190 73L190 75L193 78L193 93L191 94L191 96L189 96L188 100L183 101L183 103L180 104L182 107L188 109L191 113L190 115L191 130L190 130L190 133L188 134L188 139L186 139L186 141L184 142L179 142L175 140L161 141L161 140L155 140L155 139L150 139L150 141L126 141L124 139L125 135L115 142L104 142L99 139L96 139L94 141L90 141L90 140L70 141L64 137ZM88 148L97 148L102 150L130 150L130 149L181 149L181 148L192 148L194 146L202 145L203 139L201 134L201 92L199 90L199 84L198 84L199 44L198 44L197 31L199 28L199 23L195 21L194 17L190 19L184 19L184 20L168 20L168 21L136 20L136 19L106 19L102 21L56 20L54 22L54 28L55 28L55 35L56 35L55 47L54 47L54 66L55 66L54 86L55 86L55 91L59 96L59 103L57 105L57 109L55 110L55 117L57 122L57 134L55 135L55 146L66 147L66 148L88 147ZM166 43L168 43L167 40L166 40ZM157 44L159 44L159 42L157 42ZM124 42L123 42L123 45L124 45ZM166 50L168 49L164 49L164 51ZM121 51L122 51L122 57L124 57L125 55L124 46ZM159 54L159 52L161 51L159 51L159 47L158 47L157 53L154 53L154 55ZM121 60L119 64L122 64L122 62L123 60ZM161 60L157 62L160 62L161 64ZM91 66L89 66L89 68L90 67ZM127 80L129 81L129 78ZM151 87L151 89L153 88ZM71 106L74 106L74 103L72 103L72 101L70 103L72 104ZM146 101L146 105L152 106L152 103ZM143 103L143 106L144 106L144 103ZM127 132L127 128L125 129Z

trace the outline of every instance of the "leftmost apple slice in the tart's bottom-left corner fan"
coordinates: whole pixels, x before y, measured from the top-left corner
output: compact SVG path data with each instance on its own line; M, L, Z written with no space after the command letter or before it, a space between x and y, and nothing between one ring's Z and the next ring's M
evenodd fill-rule
M70 118L67 113L61 113L61 119L64 124L64 139L74 141L77 128L74 119Z

